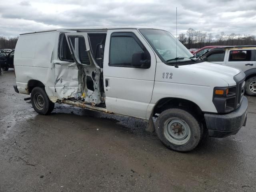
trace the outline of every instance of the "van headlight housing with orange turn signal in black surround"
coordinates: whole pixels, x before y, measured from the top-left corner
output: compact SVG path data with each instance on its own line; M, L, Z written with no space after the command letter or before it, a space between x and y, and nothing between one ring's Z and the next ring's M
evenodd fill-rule
M212 102L218 113L228 113L235 109L236 86L215 87Z

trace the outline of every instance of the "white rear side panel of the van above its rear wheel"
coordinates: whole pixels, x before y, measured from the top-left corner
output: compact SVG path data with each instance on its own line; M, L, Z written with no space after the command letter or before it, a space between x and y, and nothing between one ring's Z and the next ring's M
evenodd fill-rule
M48 96L54 96L54 68L51 57L54 52L56 32L24 34L19 37L14 55L17 88L30 94L28 82L42 82ZM22 46L22 47L20 47Z

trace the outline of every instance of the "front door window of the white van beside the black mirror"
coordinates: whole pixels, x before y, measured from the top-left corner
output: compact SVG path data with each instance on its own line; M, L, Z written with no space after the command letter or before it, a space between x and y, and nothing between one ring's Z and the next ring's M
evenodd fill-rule
M143 59L150 60L150 54L133 33L113 33L110 40L109 66L133 67L132 55L143 52Z

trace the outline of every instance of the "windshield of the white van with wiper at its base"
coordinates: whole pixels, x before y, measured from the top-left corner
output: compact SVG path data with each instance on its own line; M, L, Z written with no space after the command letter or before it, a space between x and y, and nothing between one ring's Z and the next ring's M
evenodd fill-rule
M193 58L192 53L180 41L177 41L176 53L176 38L167 31L140 29L140 32L165 63L187 62L191 61L190 58ZM177 58L182 58L182 60Z

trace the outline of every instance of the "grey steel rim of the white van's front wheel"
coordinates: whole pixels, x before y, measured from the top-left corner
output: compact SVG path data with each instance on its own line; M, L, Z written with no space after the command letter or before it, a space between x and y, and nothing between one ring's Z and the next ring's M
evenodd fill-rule
M164 122L164 136L172 144L183 145L190 139L191 131L180 118L169 118Z

